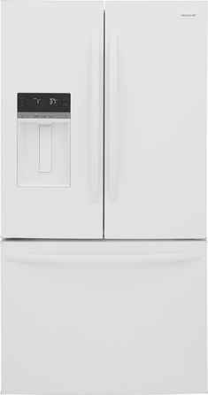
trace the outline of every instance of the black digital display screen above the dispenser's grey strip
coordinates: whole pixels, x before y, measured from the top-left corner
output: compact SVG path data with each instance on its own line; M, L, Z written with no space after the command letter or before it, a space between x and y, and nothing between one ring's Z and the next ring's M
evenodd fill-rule
M70 93L19 93L18 112L71 112Z

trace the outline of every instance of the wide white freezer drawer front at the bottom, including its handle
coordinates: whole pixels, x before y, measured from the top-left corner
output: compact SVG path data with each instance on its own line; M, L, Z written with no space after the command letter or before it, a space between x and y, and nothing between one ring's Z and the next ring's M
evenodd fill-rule
M3 242L3 393L206 392L206 243Z

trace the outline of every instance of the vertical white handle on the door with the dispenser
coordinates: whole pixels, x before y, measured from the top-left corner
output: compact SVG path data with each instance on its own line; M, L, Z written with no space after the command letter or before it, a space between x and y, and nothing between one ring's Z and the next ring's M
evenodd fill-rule
M90 109L90 196L96 203L100 191L101 174L101 113L100 113L100 42L91 39L91 109Z

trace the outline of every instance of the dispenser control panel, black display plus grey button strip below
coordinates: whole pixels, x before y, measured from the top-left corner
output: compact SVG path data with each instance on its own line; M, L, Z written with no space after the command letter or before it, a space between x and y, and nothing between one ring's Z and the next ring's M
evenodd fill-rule
M70 93L18 93L18 118L70 118Z

